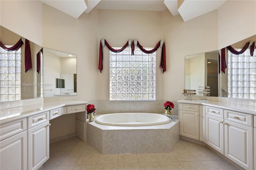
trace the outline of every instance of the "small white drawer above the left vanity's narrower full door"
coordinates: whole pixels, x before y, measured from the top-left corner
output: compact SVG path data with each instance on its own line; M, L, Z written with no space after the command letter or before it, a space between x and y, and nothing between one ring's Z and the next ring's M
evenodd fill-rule
M28 117L28 129L49 121L49 111Z

